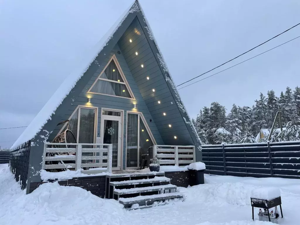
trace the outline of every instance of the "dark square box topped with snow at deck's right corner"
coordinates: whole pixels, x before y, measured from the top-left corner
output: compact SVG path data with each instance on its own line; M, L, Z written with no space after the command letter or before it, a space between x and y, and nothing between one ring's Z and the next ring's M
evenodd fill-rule
M204 184L205 164L202 162L191 163L187 166L189 170L190 186Z

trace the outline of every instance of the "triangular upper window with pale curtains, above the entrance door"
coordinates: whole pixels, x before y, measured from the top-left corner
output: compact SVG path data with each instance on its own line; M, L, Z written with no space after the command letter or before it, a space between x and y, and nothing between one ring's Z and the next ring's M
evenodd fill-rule
M104 70L102 70L88 92L134 99L134 95L115 55L104 67Z

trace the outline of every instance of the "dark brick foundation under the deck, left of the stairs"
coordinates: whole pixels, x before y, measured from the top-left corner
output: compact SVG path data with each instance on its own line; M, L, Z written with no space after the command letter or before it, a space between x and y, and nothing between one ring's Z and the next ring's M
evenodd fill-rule
M49 181L55 182L55 181ZM46 182L30 183L29 193L38 188L41 184ZM75 186L81 187L85 190L91 191L92 194L104 198L105 196L105 176L90 176L90 177L74 177L70 180L58 181L61 186Z

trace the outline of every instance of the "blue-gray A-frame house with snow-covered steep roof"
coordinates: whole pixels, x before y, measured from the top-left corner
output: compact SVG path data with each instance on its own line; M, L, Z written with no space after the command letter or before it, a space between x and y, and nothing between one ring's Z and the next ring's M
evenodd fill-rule
M19 154L11 156L12 170L24 187L27 178L27 193L41 182L44 143L66 129L76 143L113 144L113 170L139 169L154 145L195 146L193 161L202 161L201 141L138 1L77 67L12 146Z

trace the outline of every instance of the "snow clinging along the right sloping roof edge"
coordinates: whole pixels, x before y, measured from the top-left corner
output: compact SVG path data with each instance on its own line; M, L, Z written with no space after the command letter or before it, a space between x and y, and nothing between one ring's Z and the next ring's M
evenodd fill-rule
M192 129L193 133L195 134L197 140L199 141L200 145L202 145L202 141L201 141L201 139L199 138L199 135L197 134L196 128L195 128L195 126L193 125L193 122L192 122L192 120L190 119L190 116L188 115L187 110L185 109L184 104L183 104L183 102L182 102L182 100L181 100L181 98L180 98L180 95L179 95L179 93L178 93L178 90L177 90L177 88L176 88L176 85L175 85L175 83L174 83L174 81L173 81L173 79L172 79L172 76L171 76L171 74L170 74L170 72L169 72L169 69L168 69L168 67L167 67L166 61L164 60L164 56L163 56L163 54L162 54L162 52L161 52L161 49L158 47L158 44L157 44L157 41L156 41L156 39L155 39L155 37L154 37L154 35L153 35L152 29L151 29L151 27L150 27L150 25L149 25L149 22L148 22L148 20L147 20L147 18L146 18L146 16L145 16L144 10L143 10L143 8L141 7L140 4L139 4L139 6L140 6L140 10L141 10L142 16L143 16L143 18L144 18L144 22L146 23L146 27L145 27L145 28L147 29L149 38L150 38L150 40L154 41L154 44L155 44L155 46L156 46L156 48L157 48L157 50L158 50L157 57L158 57L158 59L159 59L159 61L160 61L161 67L163 68L163 71L164 71L165 73L168 73L168 74L169 74L169 77L167 76L167 74L165 74L165 79L166 79L167 82L170 83L170 85L171 85L171 87L172 87L172 89L173 89L173 91L174 91L174 93L175 93L175 97L176 97L175 101L176 101L176 104L177 104L179 110L181 110L183 113L186 113L186 115L187 115L188 121L187 121L187 119L183 118L183 119L184 119L184 122L185 122L187 125L189 125L189 126L191 127L191 129ZM201 151L201 150L202 150L202 147L201 147L201 146L198 146L198 150Z

